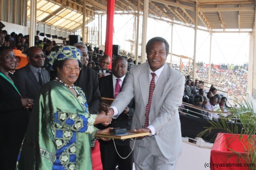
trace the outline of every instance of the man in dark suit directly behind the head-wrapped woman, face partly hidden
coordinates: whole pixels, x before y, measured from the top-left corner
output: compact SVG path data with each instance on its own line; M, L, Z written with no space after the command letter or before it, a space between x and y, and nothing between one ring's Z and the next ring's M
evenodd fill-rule
M74 46L79 48L82 53L81 64L83 65L79 77L74 85L77 85L83 89L90 114L97 114L102 103L102 98L99 93L99 80L97 72L84 65L84 62L88 57L87 46L81 42L77 42L74 44Z

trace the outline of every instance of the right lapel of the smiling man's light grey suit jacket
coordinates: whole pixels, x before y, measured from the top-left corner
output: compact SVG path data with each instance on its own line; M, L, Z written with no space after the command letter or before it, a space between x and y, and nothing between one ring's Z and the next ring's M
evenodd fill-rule
M169 79L168 72L169 72L169 67L168 67L168 65L165 65L162 73L160 74L160 77L158 77L157 84L155 85L150 110L152 110L154 108L159 97L163 93L166 82Z

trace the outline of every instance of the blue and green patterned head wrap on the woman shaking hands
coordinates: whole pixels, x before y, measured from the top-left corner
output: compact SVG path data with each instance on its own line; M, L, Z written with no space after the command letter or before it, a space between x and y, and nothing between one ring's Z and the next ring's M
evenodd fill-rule
M49 63L49 67L53 70L53 62L57 59L58 61L65 59L76 59L80 62L81 60L81 51L71 45L66 45L58 49L58 51L52 51L48 56L47 60Z

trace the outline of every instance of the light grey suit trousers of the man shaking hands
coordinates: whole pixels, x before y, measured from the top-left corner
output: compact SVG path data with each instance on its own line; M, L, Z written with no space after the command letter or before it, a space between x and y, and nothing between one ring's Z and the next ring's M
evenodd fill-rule
M163 156L154 136L141 139L134 150L136 170L173 170L176 160L177 157L166 159Z

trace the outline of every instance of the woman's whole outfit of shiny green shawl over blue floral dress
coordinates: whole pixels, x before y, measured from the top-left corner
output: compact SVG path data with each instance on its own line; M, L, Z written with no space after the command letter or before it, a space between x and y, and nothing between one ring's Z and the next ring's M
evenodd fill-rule
M17 170L91 170L90 147L97 115L88 111L81 88L78 97L59 82L51 81L35 100L18 158ZM39 123L40 122L40 123Z

